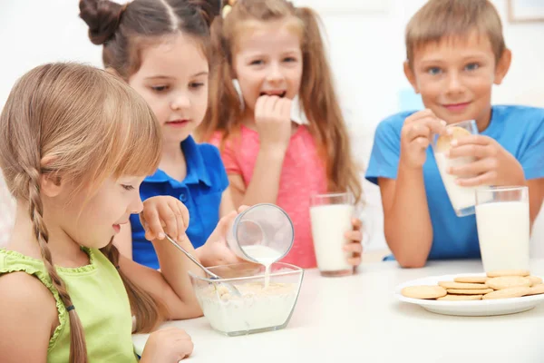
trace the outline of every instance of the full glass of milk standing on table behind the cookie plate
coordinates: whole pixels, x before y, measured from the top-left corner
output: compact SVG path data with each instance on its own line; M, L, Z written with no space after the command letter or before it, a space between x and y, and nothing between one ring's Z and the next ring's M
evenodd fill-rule
M528 187L487 187L476 202L483 269L529 270Z

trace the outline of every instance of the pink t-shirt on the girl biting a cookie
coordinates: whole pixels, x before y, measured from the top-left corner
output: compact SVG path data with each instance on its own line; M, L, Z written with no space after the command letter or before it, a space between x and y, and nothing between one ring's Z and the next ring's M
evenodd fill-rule
M219 147L221 134L210 142ZM228 174L251 182L259 149L258 133L242 126L240 136L225 142L221 158ZM282 260L304 269L316 267L316 252L310 225L310 197L326 192L325 163L317 154L316 142L306 126L299 126L287 147L276 204L287 212L295 226L295 243Z

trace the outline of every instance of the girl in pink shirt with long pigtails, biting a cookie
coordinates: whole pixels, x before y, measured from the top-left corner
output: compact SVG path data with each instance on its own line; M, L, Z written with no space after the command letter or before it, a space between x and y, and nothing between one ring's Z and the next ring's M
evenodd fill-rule
M235 204L275 203L295 225L283 260L316 267L310 197L362 188L338 105L317 15L285 0L238 0L212 25L215 69L209 114L199 138L215 143ZM307 122L295 123L300 97ZM361 221L353 221L353 252L361 262Z

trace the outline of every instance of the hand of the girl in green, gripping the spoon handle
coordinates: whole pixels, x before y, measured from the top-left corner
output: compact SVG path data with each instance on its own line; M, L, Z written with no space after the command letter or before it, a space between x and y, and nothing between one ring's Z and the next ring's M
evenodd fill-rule
M152 197L143 202L140 221L146 240L164 240L164 233L175 240L183 240L189 227L189 211L174 197Z

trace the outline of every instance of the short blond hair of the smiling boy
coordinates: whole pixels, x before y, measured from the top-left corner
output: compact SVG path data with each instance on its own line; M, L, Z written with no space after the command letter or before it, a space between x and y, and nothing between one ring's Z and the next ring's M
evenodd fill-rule
M506 45L500 16L489 0L429 0L406 26L406 59L412 65L418 47L474 30L488 36L499 62Z

